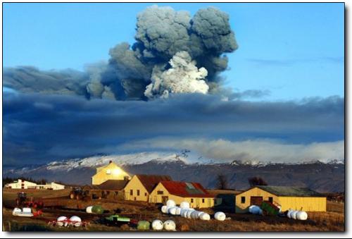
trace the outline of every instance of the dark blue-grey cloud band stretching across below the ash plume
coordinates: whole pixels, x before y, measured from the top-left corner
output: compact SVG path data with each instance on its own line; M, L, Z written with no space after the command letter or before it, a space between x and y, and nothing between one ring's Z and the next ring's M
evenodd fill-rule
M109 101L44 94L4 94L4 162L23 164L123 150L153 137L284 142L344 139L344 99L301 102L222 101L182 94L167 100Z

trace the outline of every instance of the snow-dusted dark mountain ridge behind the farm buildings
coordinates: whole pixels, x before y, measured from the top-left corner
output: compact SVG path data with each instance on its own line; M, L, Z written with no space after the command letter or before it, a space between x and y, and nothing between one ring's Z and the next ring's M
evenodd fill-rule
M134 156L133 156L134 155ZM269 185L292 185L312 188L319 192L344 192L344 163L312 161L305 164L188 164L187 159L175 154L133 154L127 161L120 156L89 157L69 161L55 161L36 168L15 168L3 172L3 177L25 176L46 178L70 184L89 184L96 166L113 160L131 174L168 174L174 180L202 183L206 188L216 187L216 178L222 173L229 187L236 190L249 188L248 178L260 176ZM139 159L139 157L143 157ZM147 159L147 161L146 161Z

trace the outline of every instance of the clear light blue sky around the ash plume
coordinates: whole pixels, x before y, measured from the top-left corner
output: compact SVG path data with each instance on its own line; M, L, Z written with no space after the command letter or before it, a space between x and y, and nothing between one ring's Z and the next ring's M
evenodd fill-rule
M134 42L137 13L151 4L4 4L4 67L74 68L108 60ZM217 6L230 15L239 49L222 73L234 90L267 100L344 97L344 4L158 4Z

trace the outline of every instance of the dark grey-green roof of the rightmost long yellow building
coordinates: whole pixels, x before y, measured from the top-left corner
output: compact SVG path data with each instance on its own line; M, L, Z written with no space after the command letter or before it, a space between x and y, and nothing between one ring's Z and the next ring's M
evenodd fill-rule
M256 186L270 192L273 195L281 197L325 197L319 192L315 192L309 188L298 188L298 187L283 187L283 186Z

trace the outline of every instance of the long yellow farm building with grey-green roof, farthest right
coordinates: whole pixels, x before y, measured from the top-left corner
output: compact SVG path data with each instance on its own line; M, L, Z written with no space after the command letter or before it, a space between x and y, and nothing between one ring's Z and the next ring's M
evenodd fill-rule
M263 201L280 205L283 212L288 209L325 212L327 200L320 193L308 188L255 186L236 195L235 211L248 212L249 206L260 205Z

